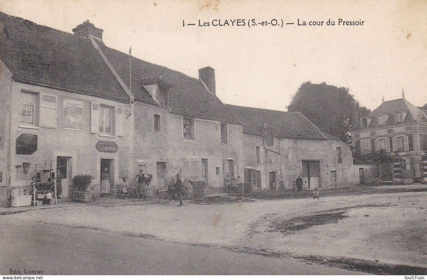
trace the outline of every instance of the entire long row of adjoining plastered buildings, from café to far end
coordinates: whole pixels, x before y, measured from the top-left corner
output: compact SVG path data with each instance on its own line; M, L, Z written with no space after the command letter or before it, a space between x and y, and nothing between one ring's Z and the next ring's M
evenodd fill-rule
M158 187L180 174L218 192L227 176L250 191L292 188L298 174L310 188L350 182L344 143L300 113L226 106L211 67L197 79L137 59L89 21L73 34L3 13L0 23L1 206L56 168L63 200L75 175L99 188L105 168L111 186L140 169Z

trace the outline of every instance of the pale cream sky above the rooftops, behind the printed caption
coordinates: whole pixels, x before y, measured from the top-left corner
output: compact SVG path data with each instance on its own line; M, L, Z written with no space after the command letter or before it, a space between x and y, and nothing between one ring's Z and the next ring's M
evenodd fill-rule
M412 104L427 103L423 0L0 0L0 11L70 33L89 20L108 47L132 46L133 56L191 77L211 66L228 104L286 111L308 81L348 88L368 109L402 89ZM273 19L279 26L262 25Z

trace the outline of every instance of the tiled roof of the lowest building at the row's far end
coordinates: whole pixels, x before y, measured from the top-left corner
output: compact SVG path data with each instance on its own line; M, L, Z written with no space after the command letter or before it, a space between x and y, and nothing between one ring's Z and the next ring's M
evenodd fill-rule
M227 105L227 107L243 123L243 132L245 133L264 136L264 127L267 125L275 127L273 131L277 137L328 139L301 112L282 112L234 105Z

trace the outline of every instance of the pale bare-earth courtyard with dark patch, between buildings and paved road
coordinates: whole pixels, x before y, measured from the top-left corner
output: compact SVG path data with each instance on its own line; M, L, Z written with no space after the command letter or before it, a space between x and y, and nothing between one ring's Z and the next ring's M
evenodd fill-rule
M4 215L0 218L0 222L6 224L6 227L16 224L22 227L23 232L27 232L22 237L14 239L14 242L26 237L30 238L32 244L38 244L38 238L43 239L43 236L49 238L43 239L42 244L49 243L49 239L55 239L49 244L58 244L56 239L61 240L67 231L62 229L77 228L80 230L78 235L85 236L85 239L70 239L72 236L70 235L66 242L69 250L73 250L73 242L79 243L78 247L93 247L93 244L97 244L95 232L102 234L108 232L108 234L116 233L108 242L111 246L117 242L117 248L128 248L129 245L126 244L129 242L137 242L135 244L145 242L144 244L150 247L151 245L147 245L146 242L162 241L155 243L156 246L195 245L185 248L190 248L186 249L190 251L202 250L201 253L208 250L206 247L212 250L219 249L227 254L244 252L240 253L242 257L248 256L247 253L280 255L288 261L292 260L292 257L318 259L325 264L353 259L364 265L372 263L408 265L427 271L426 202L426 192L401 192L321 196L320 200L288 199L190 204L184 207L176 207L174 203L166 206L157 203L109 207L82 205ZM27 223L28 221L30 223ZM50 229L52 225L65 227ZM35 229L28 230L27 227ZM82 231L82 228L85 230ZM56 232L56 235L49 233L45 236L44 229L50 229ZM7 235L2 233L1 236L5 238ZM175 245L172 245L173 243ZM63 245L62 242L59 244ZM103 241L100 244L103 244ZM11 246L9 244L10 248ZM42 246L38 245L37 248L43 251ZM108 250L107 248L108 246L105 250ZM28 246L27 250L30 249L31 246ZM116 252L117 258L120 258L119 255L123 252L133 254L132 250L120 250ZM43 252L39 253L44 255ZM98 253L104 254L102 250ZM58 255L58 252L55 254ZM166 255L170 258L172 255L175 256L175 253ZM220 255L221 253L218 255L219 259ZM213 259L215 257L212 256L212 261ZM248 262L254 267L258 265L255 259L248 259L246 264ZM304 262L302 264L306 265ZM184 271L189 273L189 270ZM210 272L233 273L232 270ZM297 274L278 270L247 272ZM196 270L194 273L203 272ZM244 272L239 270L239 273ZM307 270L300 273L311 272ZM317 273L323 272L318 270Z

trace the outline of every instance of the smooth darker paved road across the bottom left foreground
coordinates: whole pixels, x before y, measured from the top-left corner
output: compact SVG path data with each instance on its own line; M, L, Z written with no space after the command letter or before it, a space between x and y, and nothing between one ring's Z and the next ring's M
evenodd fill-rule
M0 217L0 274L360 274L294 259L236 253Z

